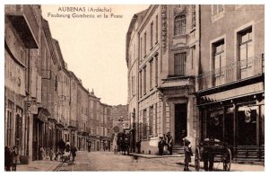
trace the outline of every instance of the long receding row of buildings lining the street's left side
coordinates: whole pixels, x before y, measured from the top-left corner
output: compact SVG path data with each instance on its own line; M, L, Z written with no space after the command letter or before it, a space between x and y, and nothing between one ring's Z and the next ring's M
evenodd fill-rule
M110 136L110 106L68 70L41 5L6 4L4 14L4 146L18 146L22 164L41 160L40 147L56 152L60 139L87 150L94 137L91 148L100 150L101 137Z

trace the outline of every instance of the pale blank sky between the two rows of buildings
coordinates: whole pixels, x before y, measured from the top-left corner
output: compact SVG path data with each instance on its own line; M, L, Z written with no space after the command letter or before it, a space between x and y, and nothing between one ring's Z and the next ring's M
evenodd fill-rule
M81 7L86 12L63 12L65 7ZM110 12L104 18L103 12L91 12L91 7L111 9L111 13L122 18L111 17ZM82 79L86 89L93 89L101 102L117 105L127 103L126 32L134 13L148 7L149 4L42 4L41 9L52 38L59 42L67 68ZM75 18L73 13L92 14L95 18ZM62 17L63 14L69 14L70 18ZM99 14L101 18L97 17Z

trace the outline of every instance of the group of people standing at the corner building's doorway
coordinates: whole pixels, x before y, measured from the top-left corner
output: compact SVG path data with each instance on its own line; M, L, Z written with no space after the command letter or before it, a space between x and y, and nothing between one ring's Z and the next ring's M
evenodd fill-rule
M163 137L160 137L158 142L159 155L163 155L165 151L169 151L169 155L173 154L173 137L170 132L163 134Z

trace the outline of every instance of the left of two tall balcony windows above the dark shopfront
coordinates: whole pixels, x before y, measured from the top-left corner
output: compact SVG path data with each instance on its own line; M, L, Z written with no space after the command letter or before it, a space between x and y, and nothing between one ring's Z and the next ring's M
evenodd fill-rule
M225 49L224 40L218 41L213 44L214 52L214 86L224 84L224 74L222 73L222 67L225 66Z

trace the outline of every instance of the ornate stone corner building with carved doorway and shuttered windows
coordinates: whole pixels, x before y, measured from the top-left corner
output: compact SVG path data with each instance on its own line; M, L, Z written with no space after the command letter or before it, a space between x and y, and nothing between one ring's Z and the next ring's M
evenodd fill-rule
M136 140L142 138L145 152L157 153L159 137L170 132L175 145L182 145L182 131L195 144L195 62L199 45L199 19L196 18L198 5L151 5L142 15L141 22L134 16L127 35L126 54L129 71L129 102L138 103L138 114L133 111L131 120L138 123ZM138 24L137 24L138 23ZM138 49L130 49L138 38ZM134 38L135 39L135 38ZM135 72L135 57L138 67ZM134 58L134 59L133 59ZM133 61L134 60L134 61ZM133 65L131 65L133 64ZM138 101L132 101L132 78ZM134 107L134 106L133 106ZM132 108L133 109L133 108ZM131 115L129 115L131 116Z

